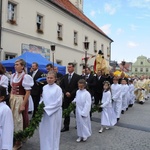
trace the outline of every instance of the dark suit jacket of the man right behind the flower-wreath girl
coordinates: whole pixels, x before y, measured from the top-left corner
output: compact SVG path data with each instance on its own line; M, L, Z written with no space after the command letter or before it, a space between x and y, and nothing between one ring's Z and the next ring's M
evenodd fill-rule
M103 92L103 83L105 81L104 77L98 78L98 76L94 76L95 86L94 86L94 92L96 93L102 93Z

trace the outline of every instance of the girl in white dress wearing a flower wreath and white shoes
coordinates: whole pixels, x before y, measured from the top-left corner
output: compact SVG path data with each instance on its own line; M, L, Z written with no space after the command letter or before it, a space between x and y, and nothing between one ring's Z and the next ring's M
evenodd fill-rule
M104 82L103 86L103 97L102 97L102 112L101 112L101 129L99 133L102 133L104 127L109 129L109 127L114 126L117 123L116 114L112 107L112 99L111 99L111 92L110 92L110 83L108 81Z

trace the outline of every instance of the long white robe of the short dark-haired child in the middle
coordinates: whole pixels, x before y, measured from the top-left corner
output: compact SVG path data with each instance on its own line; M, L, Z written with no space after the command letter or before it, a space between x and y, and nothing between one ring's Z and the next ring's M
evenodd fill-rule
M90 121L91 95L86 89L78 90L73 102L76 102L77 135L78 137L88 138L92 134Z

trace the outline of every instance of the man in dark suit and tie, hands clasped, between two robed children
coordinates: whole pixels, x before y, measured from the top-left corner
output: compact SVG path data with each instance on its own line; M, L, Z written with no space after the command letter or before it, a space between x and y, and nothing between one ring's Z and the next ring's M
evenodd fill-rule
M64 94L63 109L67 109L70 103L76 96L76 91L78 90L78 81L80 76L74 72L74 64L68 63L68 74L64 75L61 80L60 87L62 88ZM64 128L61 132L69 130L70 116L64 118Z

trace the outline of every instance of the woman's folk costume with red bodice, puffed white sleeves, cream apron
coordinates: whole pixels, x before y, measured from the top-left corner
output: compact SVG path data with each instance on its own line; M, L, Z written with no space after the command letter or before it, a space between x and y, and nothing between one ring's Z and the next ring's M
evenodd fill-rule
M12 86L10 96L10 107L13 113L14 130L19 131L25 129L29 124L28 119L28 103L25 110L19 113L20 105L24 100L26 90L31 90L33 79L24 71L18 76L18 72L12 74L10 84Z

